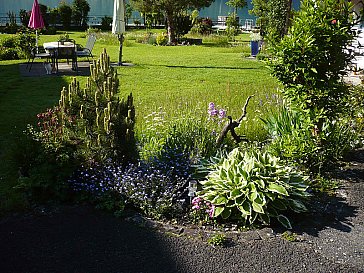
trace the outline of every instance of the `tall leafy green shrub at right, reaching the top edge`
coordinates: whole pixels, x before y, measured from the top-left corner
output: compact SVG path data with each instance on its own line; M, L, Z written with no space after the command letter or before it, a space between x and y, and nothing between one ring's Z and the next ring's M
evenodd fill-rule
M324 119L345 112L348 88L342 81L354 38L351 3L345 0L305 0L289 35L273 48L272 74L283 84L283 95L308 111L321 130Z

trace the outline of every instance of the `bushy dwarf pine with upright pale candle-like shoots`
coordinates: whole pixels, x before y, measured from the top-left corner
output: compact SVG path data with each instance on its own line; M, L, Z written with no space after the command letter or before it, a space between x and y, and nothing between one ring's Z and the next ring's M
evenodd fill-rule
M61 91L59 108L65 130L77 142L78 154L86 160L130 159L135 123L132 94L127 100L116 96L119 80L106 50L90 65L90 71L85 88L81 89L74 78L68 89ZM75 124L67 123L68 116L76 117Z

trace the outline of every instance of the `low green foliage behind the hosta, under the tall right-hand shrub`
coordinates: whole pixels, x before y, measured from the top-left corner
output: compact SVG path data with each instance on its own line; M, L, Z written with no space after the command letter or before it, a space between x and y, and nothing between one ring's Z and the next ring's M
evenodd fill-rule
M330 165L359 143L362 124L348 118L324 122L317 130L310 117L302 112L282 107L263 119L270 135L268 150L275 156L301 164L313 172L328 169Z

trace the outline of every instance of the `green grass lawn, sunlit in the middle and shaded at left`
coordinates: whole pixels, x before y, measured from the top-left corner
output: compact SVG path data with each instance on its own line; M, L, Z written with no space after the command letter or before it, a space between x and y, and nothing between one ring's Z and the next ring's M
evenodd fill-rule
M77 43L86 43L84 32L68 33ZM0 35L0 39L2 37ZM56 41L58 37L59 34L41 35L39 43ZM258 119L264 110L261 101L269 102L266 97L276 92L277 83L264 63L242 57L246 47L216 47L211 43L159 47L128 39L135 37L135 33L126 37L123 61L133 66L119 67L117 71L121 96L133 93L138 130L144 128L143 117L159 107L169 118L184 117L191 112L205 115L208 103L213 101L237 118L246 98L254 94L248 107L248 120L238 133L251 139L263 137ZM96 58L103 48L111 61L118 60L116 37L99 34L93 50ZM17 166L12 161L11 149L16 143L14 140L22 135L28 123L36 122L37 113L58 102L60 90L72 79L69 76L21 77L19 63L24 61L0 62L0 209L14 208L21 203L21 196L14 195L12 190L17 180ZM79 76L78 79L84 85L86 77Z

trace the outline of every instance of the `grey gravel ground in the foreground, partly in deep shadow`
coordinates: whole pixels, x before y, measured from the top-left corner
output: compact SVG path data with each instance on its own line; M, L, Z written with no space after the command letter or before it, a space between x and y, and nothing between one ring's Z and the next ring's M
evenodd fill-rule
M7 216L0 219L0 272L364 272L364 151L337 177L343 187L336 197L293 219L294 242L284 230L263 228L228 232L228 246L212 247L201 229L160 228L89 207Z

